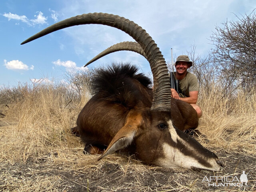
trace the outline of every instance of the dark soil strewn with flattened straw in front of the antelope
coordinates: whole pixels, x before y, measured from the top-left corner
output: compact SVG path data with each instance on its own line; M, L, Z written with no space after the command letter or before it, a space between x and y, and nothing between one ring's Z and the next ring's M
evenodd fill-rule
M42 184L40 190L82 192L82 191L256 191L256 157L225 152L217 153L225 164L224 172L195 172L183 168L170 169L148 166L127 156L119 156L118 162L108 159L98 162L90 169L72 170L56 166L58 154L48 154L44 158L29 158L26 164L2 164L0 167L1 191L21 190L32 183ZM52 158L53 157L53 158ZM84 158L94 158L84 155ZM95 156L95 158L97 158ZM114 157L113 157L114 158ZM129 166L126 166L127 162ZM141 169L139 167L143 166ZM125 169L124 169L125 168ZM236 176L245 171L247 186L209 186L210 176ZM213 182L210 182L212 184Z

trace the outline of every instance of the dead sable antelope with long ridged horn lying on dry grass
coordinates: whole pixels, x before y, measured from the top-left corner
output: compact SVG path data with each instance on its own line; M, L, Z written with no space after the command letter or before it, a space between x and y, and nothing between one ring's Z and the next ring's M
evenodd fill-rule
M213 152L173 126L171 113L174 116L180 114L172 110L165 60L154 40L134 22L112 14L82 14L49 26L22 44L80 24L108 25L132 36L148 58L154 82L151 99L148 80L142 74L136 74L134 67L113 66L99 72L94 80L94 96L77 119L76 128L86 142L85 150L102 150L108 146L101 159L131 146L138 158L146 163L164 167L222 170L223 165ZM107 90L102 86L106 83Z

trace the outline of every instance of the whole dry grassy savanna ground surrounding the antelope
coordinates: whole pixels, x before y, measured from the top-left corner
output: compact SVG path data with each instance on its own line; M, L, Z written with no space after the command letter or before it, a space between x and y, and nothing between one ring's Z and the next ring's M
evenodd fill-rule
M214 87L212 92L200 91L203 116L198 130L204 136L195 138L216 153L225 170L196 172L147 165L120 152L100 161L98 155L83 154L84 144L70 128L90 94L84 91L76 98L67 87L2 88L0 191L256 191L253 92L238 91L232 98L221 98ZM206 180L210 176L240 179L242 171L247 174L247 186L209 186Z

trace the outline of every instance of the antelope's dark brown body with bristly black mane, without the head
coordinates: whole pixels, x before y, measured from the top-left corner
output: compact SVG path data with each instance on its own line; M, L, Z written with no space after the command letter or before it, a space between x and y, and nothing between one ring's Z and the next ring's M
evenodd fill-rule
M143 108L146 112L143 118L150 122L148 114L153 98L153 91L149 88L150 80L142 74L135 75L135 78L128 76L129 65L122 67L125 69L121 69L118 74L110 75L111 80L109 76L103 77L101 71L98 72L94 80L95 95L78 115L77 127L73 128L73 132L82 136L86 143L85 149L89 153L94 153L90 152L91 146L96 146L103 151L110 144L116 133L124 126L131 109ZM132 69L136 68L132 67ZM133 74L136 71L137 69ZM190 104L172 98L171 108L174 127L183 131L188 128L195 129L198 126L198 116Z

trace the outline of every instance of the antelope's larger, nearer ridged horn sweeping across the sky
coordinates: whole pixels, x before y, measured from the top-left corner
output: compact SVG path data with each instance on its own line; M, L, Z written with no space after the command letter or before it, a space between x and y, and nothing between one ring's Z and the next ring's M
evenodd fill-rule
M49 26L28 38L21 44L25 44L56 30L81 24L103 24L112 26L126 32L134 38L134 40L136 40L144 50L153 74L154 94L151 110L170 111L171 91L168 70L164 57L146 30L124 17L106 13L88 13L78 15Z

